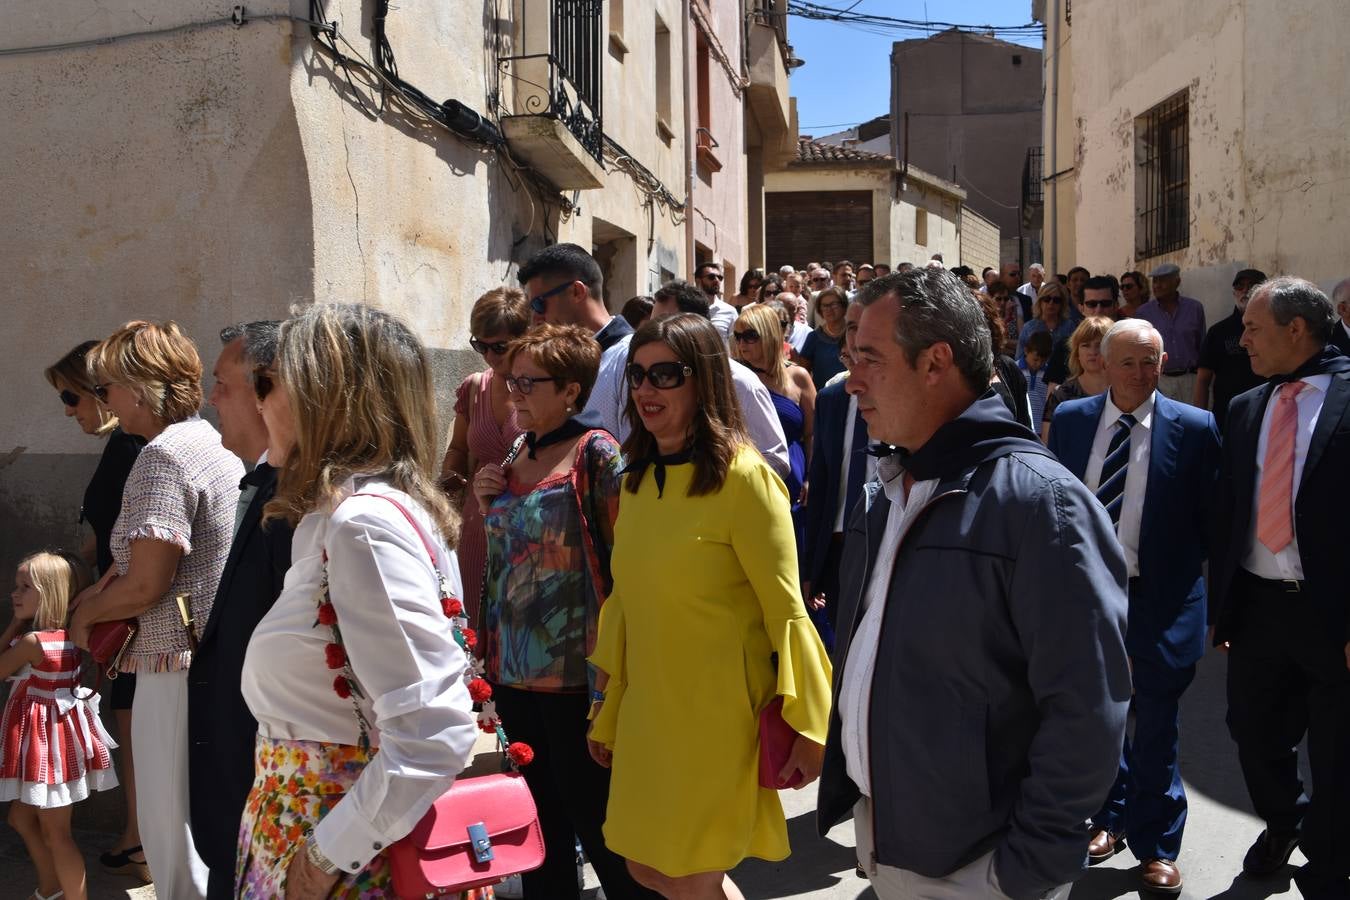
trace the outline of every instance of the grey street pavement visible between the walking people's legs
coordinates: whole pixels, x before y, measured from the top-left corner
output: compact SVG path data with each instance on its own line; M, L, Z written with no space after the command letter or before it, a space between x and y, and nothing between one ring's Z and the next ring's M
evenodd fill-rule
M1195 900L1297 897L1299 891L1291 881L1292 865L1269 881L1238 877L1242 854L1261 831L1261 824L1251 815L1237 754L1223 725L1223 657L1216 653L1207 656L1183 702L1181 770L1187 776L1191 812L1180 860L1185 876L1181 896ZM853 874L852 822L838 826L826 841L821 841L815 837L815 789L799 793L787 791L782 796L794 853L780 864L749 861L741 865L734 878L747 900L875 897L867 882ZM99 853L109 839L108 835L80 831L77 839L88 850L89 896L93 900L155 897L154 888L132 889L126 878L100 870ZM1301 864L1303 855L1295 853L1292 862ZM1134 866L1134 857L1129 851L1095 866L1073 888L1073 900L1139 896ZM5 873L4 882L0 884L0 900L26 900L31 896L32 869L18 835L8 828L0 837L0 870ZM593 900L595 881L591 873L587 872L587 876L585 900Z

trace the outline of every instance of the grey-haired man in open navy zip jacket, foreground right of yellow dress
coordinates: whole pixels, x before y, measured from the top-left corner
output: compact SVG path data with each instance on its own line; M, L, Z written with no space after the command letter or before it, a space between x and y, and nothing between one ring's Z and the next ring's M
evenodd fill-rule
M845 537L819 828L853 811L882 900L1064 896L1125 735L1125 556L988 390L964 285L922 269L859 302L848 390L899 449Z

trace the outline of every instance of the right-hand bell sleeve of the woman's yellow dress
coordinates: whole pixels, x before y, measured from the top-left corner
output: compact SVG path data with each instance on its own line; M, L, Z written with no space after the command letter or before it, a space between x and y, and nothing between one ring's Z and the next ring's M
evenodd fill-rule
M798 734L825 743L830 658L802 603L787 488L749 449L737 456L728 482L726 487L736 490L732 546L759 599L764 630L778 653L776 694L783 698L783 719Z

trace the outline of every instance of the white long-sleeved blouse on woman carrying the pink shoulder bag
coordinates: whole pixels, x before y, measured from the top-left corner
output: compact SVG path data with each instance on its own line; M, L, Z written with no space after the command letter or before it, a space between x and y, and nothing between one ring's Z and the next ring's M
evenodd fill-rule
M393 503L354 493L397 499L437 548L451 595L462 596L454 552L427 513L383 480L348 480L347 499L296 528L285 587L248 642L242 688L259 737L358 742L352 702L333 691L339 672L324 656L331 631L316 625L327 549L329 596L379 748L312 837L347 872L412 831L464 768L478 735L468 663L451 637L425 545Z

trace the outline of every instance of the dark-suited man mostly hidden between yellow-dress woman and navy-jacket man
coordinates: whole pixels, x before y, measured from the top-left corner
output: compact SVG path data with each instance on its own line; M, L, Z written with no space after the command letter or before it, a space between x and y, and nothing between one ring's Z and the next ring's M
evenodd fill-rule
M849 304L844 314L844 367L853 366L852 343L863 308ZM876 474L876 457L867 453L867 422L857 398L845 390L846 375L836 375L815 395L815 430L811 437L811 467L807 472L806 546L802 552L802 596L813 618L825 611L828 644L833 644L838 614L840 557L844 529L863 484Z

